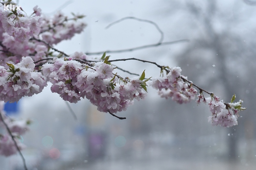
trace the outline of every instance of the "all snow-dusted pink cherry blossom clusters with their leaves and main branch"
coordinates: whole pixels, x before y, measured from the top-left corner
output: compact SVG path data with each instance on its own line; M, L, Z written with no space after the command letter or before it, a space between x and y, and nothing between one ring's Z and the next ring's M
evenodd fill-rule
M17 102L24 96L40 93L48 81L52 83L51 91L58 93L63 100L77 103L86 98L99 111L111 115L126 110L133 99L146 97L146 82L150 78L145 79L145 70L141 76L122 78L114 71L117 67L108 62L106 53L101 60L90 61L82 52L67 55L54 48L54 45L83 31L86 24L77 22L83 15L73 14L73 18L68 18L58 12L48 17L36 6L28 16L23 10L4 11L4 3L11 1L0 0L0 126L5 127L9 134L0 133L0 154L9 156L24 148L19 138L30 123L5 116L3 101ZM241 105L242 100L233 103L235 95L230 103L225 103L188 81L180 74L180 67L169 68L139 61L155 64L161 68L161 74L166 71L166 76L153 78L150 83L161 97L172 98L179 104L187 103L195 99L196 87L200 91L196 102L208 104L212 125L237 125L238 112L245 108ZM204 98L203 92L211 97Z

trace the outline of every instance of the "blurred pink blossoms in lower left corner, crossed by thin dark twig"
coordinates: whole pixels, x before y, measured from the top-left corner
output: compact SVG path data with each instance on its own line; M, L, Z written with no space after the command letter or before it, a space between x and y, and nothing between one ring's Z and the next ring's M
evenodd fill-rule
M28 125L30 124L31 121L13 120L10 117L5 115L3 108L4 108L4 102L1 101L0 102L1 118L3 118L3 121L8 126L12 136L8 133L8 130L4 126L4 122L2 121L2 119L0 119L0 127L5 129L5 133L3 133L4 131L1 131L2 133L0 133L0 155L10 156L15 154L18 151L17 146L20 150L25 148L25 145L22 143L21 135L23 135L26 131L28 131ZM15 145L12 137L14 138L17 146Z

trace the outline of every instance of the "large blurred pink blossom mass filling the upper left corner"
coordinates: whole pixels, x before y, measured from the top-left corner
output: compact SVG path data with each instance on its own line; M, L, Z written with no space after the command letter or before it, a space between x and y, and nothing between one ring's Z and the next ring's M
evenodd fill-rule
M77 22L83 15L68 18L58 12L48 17L35 6L28 16L24 11L4 11L4 3L7 2L0 1L0 65L5 67L6 62L16 64L23 56L34 61L51 56L49 45L71 39L86 26Z

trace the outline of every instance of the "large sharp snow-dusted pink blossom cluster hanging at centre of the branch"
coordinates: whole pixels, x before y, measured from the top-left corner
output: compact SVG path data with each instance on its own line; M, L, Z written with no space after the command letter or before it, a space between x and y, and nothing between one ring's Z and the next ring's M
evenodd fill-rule
M97 62L88 66L59 58L53 62L43 65L43 74L52 83L51 91L60 94L63 100L76 103L85 97L99 111L116 113L125 110L134 98L140 100L145 97L146 92L140 86L142 80L127 78L120 84L116 83L120 77L113 74L115 67L109 64Z

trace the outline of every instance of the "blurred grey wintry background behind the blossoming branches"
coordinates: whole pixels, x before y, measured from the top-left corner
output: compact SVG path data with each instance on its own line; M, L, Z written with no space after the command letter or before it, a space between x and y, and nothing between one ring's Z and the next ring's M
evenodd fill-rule
M133 52L109 53L110 59L130 58L180 66L182 74L226 102L235 93L247 109L238 125L213 127L208 123L208 106L196 102L179 105L161 99L148 88L145 100L135 101L126 117L119 120L100 113L87 100L70 104L51 93L50 84L32 97L22 98L16 119L33 123L23 136L27 149L22 153L29 169L106 169L106 170L251 170L256 167L256 1L254 0L20 0L30 15L38 5L52 16L61 10L86 15L82 34L56 46L67 54L76 51L99 52L134 48L157 43L160 33L153 25L125 20L108 29L108 24L137 17L155 22L164 41L180 42ZM100 57L101 55L95 55ZM116 62L117 66L146 77L157 77L160 70L137 61ZM132 77L119 71L123 77ZM205 97L209 97L205 94ZM0 156L1 170L23 169L20 156Z

